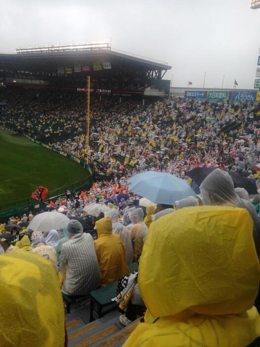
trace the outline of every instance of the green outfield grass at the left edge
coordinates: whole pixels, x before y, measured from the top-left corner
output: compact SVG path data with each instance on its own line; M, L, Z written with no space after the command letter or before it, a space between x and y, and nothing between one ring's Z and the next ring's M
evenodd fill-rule
M71 159L0 129L0 206L30 197L39 185L65 190L88 176L88 171Z

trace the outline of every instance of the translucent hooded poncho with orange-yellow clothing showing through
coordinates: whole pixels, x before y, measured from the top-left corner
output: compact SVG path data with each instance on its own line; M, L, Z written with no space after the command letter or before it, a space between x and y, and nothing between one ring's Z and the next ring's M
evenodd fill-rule
M142 209L135 209L131 211L129 217L133 224L130 229L130 236L133 247L133 261L136 261L142 254L143 244L148 232L148 228L143 223Z

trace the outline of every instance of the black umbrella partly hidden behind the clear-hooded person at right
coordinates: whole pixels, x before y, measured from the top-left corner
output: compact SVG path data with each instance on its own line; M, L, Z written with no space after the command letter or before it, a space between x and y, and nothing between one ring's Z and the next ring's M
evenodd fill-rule
M193 181L195 181L199 186L204 181L204 179L212 173L217 168L196 168L191 171L185 172L187 176L189 176ZM249 178L241 177L238 173L233 171L226 172L231 176L234 187L245 188L248 194L257 194L257 186L254 180Z

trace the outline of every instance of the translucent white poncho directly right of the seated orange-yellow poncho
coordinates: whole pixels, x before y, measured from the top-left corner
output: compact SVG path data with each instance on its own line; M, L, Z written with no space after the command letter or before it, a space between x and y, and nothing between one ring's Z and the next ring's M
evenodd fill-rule
M132 263L133 251L130 232L128 229L118 221L119 213L118 210L113 209L105 214L106 217L110 217L112 220L112 232L120 235L122 242L125 246L127 264Z

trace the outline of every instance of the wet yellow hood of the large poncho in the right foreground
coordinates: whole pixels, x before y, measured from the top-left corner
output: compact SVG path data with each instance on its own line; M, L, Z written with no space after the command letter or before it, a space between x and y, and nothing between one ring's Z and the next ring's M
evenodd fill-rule
M252 307L260 282L252 234L248 212L232 207L183 208L152 223L138 273L151 314L223 315Z

